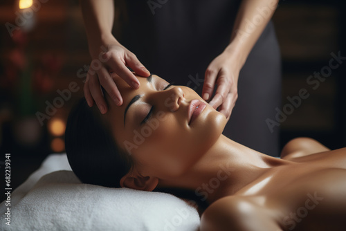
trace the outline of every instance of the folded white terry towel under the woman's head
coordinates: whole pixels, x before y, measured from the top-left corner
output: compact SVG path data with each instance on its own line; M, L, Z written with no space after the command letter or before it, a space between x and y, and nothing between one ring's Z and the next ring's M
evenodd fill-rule
M197 210L172 194L82 184L66 170L39 178L59 158L69 169L66 155L50 158L12 193L10 225L1 203L0 230L199 230Z

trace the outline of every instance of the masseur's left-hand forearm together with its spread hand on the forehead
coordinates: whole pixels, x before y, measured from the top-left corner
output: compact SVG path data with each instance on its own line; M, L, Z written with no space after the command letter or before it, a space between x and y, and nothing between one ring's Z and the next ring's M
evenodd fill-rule
M80 5L88 37L89 53L93 59L86 75L84 97L89 107L95 102L100 112L104 114L107 113L108 105L100 86L107 91L116 105L121 106L123 102L111 72L119 75L134 89L138 89L140 83L129 68L143 77L148 77L150 73L136 55L121 46L111 34L114 20L113 0L80 0Z

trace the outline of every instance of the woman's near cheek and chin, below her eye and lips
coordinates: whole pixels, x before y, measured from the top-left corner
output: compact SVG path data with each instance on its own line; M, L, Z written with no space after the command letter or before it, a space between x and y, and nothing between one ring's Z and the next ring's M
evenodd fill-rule
M180 176L196 163L222 133L226 118L210 111L198 127L185 127L173 114L152 118L136 130L134 158L160 178Z

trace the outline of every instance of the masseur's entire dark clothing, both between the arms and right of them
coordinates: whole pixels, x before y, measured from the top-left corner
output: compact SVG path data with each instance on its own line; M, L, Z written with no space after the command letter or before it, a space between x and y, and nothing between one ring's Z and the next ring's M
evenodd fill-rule
M240 2L127 0L127 10L122 10L127 17L117 39L152 73L201 94L206 68L230 42ZM155 8L153 3L161 7ZM260 19L261 12L257 12ZM251 24L254 19L246 20ZM223 132L272 156L279 154L280 130L271 131L266 120L275 119L275 108L280 107L280 60L273 23L269 22L239 73L239 98Z

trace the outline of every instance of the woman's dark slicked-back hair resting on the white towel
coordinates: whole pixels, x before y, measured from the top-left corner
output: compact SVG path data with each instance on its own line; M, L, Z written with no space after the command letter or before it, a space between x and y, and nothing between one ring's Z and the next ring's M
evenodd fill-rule
M100 111L85 98L71 109L66 124L65 149L69 164L82 183L120 187L120 179L131 169L131 156L114 140Z

